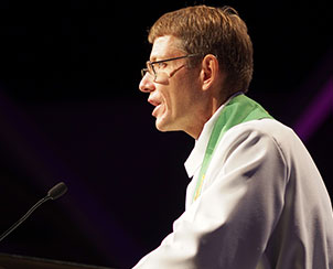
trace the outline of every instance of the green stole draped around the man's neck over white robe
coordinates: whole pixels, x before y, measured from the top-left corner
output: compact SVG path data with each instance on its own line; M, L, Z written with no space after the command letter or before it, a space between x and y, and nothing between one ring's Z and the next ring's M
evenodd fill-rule
M216 123L214 125L197 177L193 201L195 201L201 194L205 174L211 163L214 150L224 133L236 125L264 118L272 117L258 103L248 98L244 94L237 95L225 105L216 120Z

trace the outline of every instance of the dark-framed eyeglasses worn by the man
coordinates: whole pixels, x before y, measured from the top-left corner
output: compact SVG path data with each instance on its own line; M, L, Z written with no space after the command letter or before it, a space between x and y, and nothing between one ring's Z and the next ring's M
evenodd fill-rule
M142 75L142 77L144 77L146 74L149 73L149 75L151 75L153 77L153 82L159 82L161 79L163 80L165 77L170 78L175 74L175 72L178 72L179 69L184 67L184 65L178 67L176 69L174 69L173 72L168 74L165 71L163 71L163 68L165 67L165 64L164 64L165 62L175 61L175 60L180 60L180 58L186 58L186 57L193 57L193 56L197 56L197 55L200 55L200 54L187 54L184 56L166 58L166 60L161 60L161 61L155 61L155 62L148 61L147 67L141 69L141 75Z

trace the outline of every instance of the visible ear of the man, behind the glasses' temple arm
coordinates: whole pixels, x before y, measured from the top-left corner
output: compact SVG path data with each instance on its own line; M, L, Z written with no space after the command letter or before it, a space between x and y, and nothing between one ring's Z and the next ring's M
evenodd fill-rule
M213 54L207 54L202 61L202 89L207 90L216 82L219 73L218 61Z

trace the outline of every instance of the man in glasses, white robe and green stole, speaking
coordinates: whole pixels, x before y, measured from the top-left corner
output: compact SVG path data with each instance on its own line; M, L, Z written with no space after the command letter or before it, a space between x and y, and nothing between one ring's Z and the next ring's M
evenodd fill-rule
M247 28L228 7L161 17L140 90L160 131L185 131L186 209L136 269L333 268L332 205L296 133L246 97Z

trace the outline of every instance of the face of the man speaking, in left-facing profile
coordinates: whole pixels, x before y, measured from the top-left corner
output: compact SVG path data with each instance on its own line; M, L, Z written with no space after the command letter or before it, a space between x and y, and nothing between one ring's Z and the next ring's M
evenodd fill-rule
M186 55L179 44L180 40L171 35L155 39L150 61ZM146 74L139 85L141 92L149 93L148 101L154 106L152 116L157 118L157 129L189 133L195 125L195 105L200 101L197 68L187 68L186 58L165 62L159 68L158 79Z

